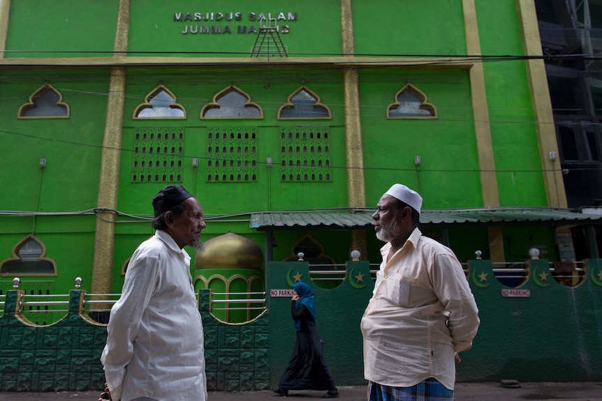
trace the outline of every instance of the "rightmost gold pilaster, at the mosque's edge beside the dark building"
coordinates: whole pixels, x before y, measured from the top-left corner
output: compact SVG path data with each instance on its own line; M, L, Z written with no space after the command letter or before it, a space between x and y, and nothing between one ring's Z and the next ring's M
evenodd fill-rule
M534 2L532 0L517 0L516 9L522 31L524 51L527 56L543 55ZM543 182L545 183L548 206L566 207L566 192L564 191L560 160L558 157L557 160L550 160L550 152L553 151L557 155L559 153L550 89L545 75L545 63L543 59L528 59L525 63L527 63L527 77L529 78L529 89L531 90L539 158L543 170Z

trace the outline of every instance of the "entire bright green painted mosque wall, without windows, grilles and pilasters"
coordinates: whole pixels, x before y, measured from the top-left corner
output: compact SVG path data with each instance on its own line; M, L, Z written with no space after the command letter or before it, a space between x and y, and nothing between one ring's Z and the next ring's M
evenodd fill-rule
M119 1L41 0L11 2L7 50L110 51L115 37ZM480 44L483 54L520 54L519 25L514 2L476 2ZM339 54L341 49L339 1L304 1L293 5L284 1L213 1L209 12L237 12L248 20L250 12L296 13L290 32L281 38L291 55ZM355 52L358 54L446 54L466 53L461 3L445 0L353 1ZM184 22L174 22L175 12L206 12L192 0L169 3L159 0L131 1L129 50L139 52L214 52L211 56L247 57L254 41L249 34L210 34L184 36ZM35 18L34 25L31 24ZM436 21L436 24L433 22ZM504 23L501 24L500 22ZM243 21L247 22L247 21ZM496 29L490 29L490 27ZM402 34L395 30L402 31ZM217 52L217 53L216 53ZM237 52L242 52L237 54ZM17 54L8 53L7 58ZM27 56L39 56L28 53ZM54 54L54 56L74 54ZM98 56L96 53L78 56ZM103 54L104 55L104 54ZM170 53L147 55L169 56ZM20 54L23 56L23 54ZM423 69L420 69L423 68ZM536 131L524 61L484 63L487 102L494 156L498 169L499 199L502 206L544 206L545 188L539 165ZM29 101L44 82L56 87L62 101L71 107L69 119L17 119L20 105ZM399 89L411 82L436 107L434 120L386 119L388 105L395 102ZM186 109L185 120L133 120L132 114L157 85L164 84ZM263 119L202 120L200 111L216 93L235 84L263 109ZM277 120L278 108L302 84L330 107L331 120ZM108 94L108 70L61 67L52 70L5 70L0 77L0 141L3 144L0 167L4 174L0 190L10 197L0 199L0 210L83 211L96 206L101 146L103 143ZM126 73L124 139L117 209L123 213L151 215L150 199L166 183L131 183L133 133L141 127L182 127L186 132L182 184L196 195L207 217L252 211L337 208L348 205L345 155L345 115L343 75L337 70L303 66L284 68L270 65L221 68L130 68ZM476 156L469 71L419 67L373 68L360 70L360 111L365 166L366 206L374 207L392 183L402 182L420 191L425 209L483 206ZM478 105L477 105L478 106ZM225 126L256 127L258 133L256 182L208 183L207 129ZM331 181L322 183L281 182L279 174L280 127L328 126L331 142ZM27 150L27 151L26 151ZM420 169L414 164L420 156ZM192 158L199 167L191 167ZM270 157L272 167L261 165ZM47 160L44 169L40 158ZM357 188L354 190L362 190ZM124 217L117 220L132 220ZM0 259L10 257L17 241L34 227L33 218L1 218ZM249 229L248 223L212 224L203 239L231 230L254 239L262 250L263 233ZM43 228L44 227L44 228ZM89 285L94 252L95 220L85 218L38 218L34 234L44 234L49 252L59 252L59 271L66 277L83 275ZM115 227L113 287L121 288L122 265L138 244L152 235L149 222L119 223ZM520 232L520 230L518 230ZM533 241L554 249L553 235L539 233ZM52 236L65 232L85 250L64 252L64 244ZM74 234L78 233L78 234ZM348 232L311 231L323 244L325 253L337 263L348 259ZM305 232L277 232L279 246L274 259L281 260ZM527 244L527 236L507 234ZM368 253L379 260L382 243L367 232ZM50 243L47 243L50 241ZM511 242L513 244L513 241ZM450 230L450 243L461 259L473 257L476 248L487 252L484 229ZM485 245L484 245L485 243ZM86 245L83 245L86 244ZM50 246L52 245L52 249ZM519 245L516 245L519 246ZM513 245L513 249L514 245ZM189 252L193 252L189 250ZM508 251L506 251L508 253ZM522 252L522 251L521 251ZM193 256L193 255L192 255ZM511 252L507 255L513 259ZM82 266L86 266L82 268ZM78 270L79 269L79 270ZM80 270L89 271L86 276ZM66 286L71 287L71 278Z

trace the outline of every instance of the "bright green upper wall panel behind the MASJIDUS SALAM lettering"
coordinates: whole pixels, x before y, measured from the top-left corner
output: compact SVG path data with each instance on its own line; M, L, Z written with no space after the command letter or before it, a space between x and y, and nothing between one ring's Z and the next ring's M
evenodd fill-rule
M289 56L318 56L338 54L341 51L341 11L339 1L306 0L294 3L277 0L244 1L216 0L210 6L193 0L133 0L131 1L131 25L129 51L131 55L170 56L164 52L177 52L177 56L248 57L257 40L256 33L237 33L237 27L255 27L257 20L249 20L249 14L257 16L272 13L278 17L284 13L286 20L279 26L288 25L288 33L280 38L288 48ZM186 21L175 22L174 13L241 13L242 20L230 22ZM296 21L288 20L288 13L296 13ZM229 27L231 33L182 33L186 26ZM319 27L319 29L316 29ZM135 52L135 53L134 53ZM156 53L151 53L156 52Z

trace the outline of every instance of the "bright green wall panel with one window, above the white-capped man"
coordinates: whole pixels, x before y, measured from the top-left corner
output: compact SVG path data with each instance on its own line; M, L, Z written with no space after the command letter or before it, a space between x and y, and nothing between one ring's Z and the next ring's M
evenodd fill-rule
M437 119L386 119L408 82L427 96ZM366 206L376 206L393 183L420 192L424 209L483 206L467 71L362 72L360 98Z

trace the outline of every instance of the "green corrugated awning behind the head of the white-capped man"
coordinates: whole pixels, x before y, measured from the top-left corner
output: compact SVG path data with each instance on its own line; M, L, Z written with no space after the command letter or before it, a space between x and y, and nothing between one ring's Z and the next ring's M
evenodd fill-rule
M249 227L267 229L369 229L374 209L252 213ZM557 208L487 208L423 210L420 225L441 227L500 225L599 225L602 214Z

